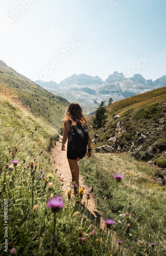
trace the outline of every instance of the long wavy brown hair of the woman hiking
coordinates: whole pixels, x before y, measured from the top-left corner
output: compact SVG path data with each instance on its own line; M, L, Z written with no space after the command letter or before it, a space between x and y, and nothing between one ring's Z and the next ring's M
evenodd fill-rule
M79 125L81 123L85 125L87 123L85 116L82 114L81 106L76 102L73 102L69 105L64 121L66 123L71 121L72 126L75 124Z

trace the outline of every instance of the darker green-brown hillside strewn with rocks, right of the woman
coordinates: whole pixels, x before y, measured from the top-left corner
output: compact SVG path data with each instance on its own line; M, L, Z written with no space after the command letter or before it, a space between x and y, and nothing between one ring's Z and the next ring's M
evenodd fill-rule
M120 152L130 152L137 159L153 160L166 167L166 88L114 102L106 107L107 121L98 130L92 129L92 139L98 134L94 147L108 144ZM120 117L114 120L114 117Z

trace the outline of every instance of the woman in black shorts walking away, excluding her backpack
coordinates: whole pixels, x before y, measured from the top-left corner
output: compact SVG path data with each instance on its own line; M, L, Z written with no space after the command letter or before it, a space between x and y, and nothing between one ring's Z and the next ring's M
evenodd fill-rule
M87 153L87 158L91 156L91 139L88 132L88 152L87 148L84 151L77 152L73 150L72 142L71 142L71 132L73 125L80 125L83 124L86 126L88 130L87 120L82 114L82 109L80 105L76 102L73 102L69 105L68 111L64 118L64 133L62 139L62 151L65 150L65 143L68 137L68 144L67 144L67 159L69 162L71 175L72 175L72 182L77 184L79 187L79 166L78 161L83 158ZM74 191L76 194L76 191Z

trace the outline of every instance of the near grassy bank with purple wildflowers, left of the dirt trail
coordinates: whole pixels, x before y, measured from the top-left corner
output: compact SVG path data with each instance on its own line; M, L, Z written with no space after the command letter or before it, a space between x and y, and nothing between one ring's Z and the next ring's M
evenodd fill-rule
M103 245L108 244L108 231L88 220L85 203L67 201L62 191L50 154L59 137L52 125L32 115L13 95L0 95L0 129L0 255L14 255L15 250L22 256L113 251L117 241ZM55 195L64 201L56 215L47 207Z

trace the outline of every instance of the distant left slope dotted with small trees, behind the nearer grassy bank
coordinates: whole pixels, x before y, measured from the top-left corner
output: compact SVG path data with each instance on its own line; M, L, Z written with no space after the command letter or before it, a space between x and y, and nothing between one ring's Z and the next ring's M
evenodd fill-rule
M36 117L44 117L58 130L63 126L62 118L69 102L18 74L2 60L0 61L0 91L13 94L13 98L30 109Z

